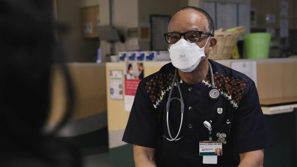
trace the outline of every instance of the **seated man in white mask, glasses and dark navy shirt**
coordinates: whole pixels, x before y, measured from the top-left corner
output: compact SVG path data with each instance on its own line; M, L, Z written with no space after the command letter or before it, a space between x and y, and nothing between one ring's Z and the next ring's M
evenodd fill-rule
M273 141L255 83L207 58L217 43L208 13L182 8L164 36L171 63L139 83L123 136L135 165L263 166ZM219 142L222 155L200 156L203 141Z

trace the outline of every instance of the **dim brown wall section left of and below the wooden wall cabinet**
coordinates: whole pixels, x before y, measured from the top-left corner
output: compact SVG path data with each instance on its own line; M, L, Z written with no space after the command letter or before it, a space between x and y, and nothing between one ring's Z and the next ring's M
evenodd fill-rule
M91 62L96 55L98 39L82 37L80 21L81 0L57 0L57 18L69 27L67 33L58 34L58 40L64 47L67 62Z

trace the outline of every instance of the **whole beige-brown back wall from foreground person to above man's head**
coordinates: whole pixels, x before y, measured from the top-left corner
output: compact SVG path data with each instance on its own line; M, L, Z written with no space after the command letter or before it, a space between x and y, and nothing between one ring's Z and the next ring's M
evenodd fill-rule
M139 42L138 45L129 45L127 31L138 27L139 23L149 23L149 15L174 15L178 9L187 6L191 0L114 0L115 27L124 35L126 42L116 42L115 53L133 49L150 50L149 42ZM193 0L192 0L193 1ZM59 42L64 45L67 62L94 61L99 40L84 39L80 20L80 7L99 4L101 25L109 25L109 0L57 0L57 18L69 26L67 34L59 34ZM100 41L102 62L110 54L110 44Z

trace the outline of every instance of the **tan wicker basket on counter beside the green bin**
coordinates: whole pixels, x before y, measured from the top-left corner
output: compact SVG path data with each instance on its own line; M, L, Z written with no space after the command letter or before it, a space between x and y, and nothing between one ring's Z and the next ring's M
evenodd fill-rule
M215 32L214 37L217 38L217 45L208 53L209 59L230 59L233 48L238 38L245 31L244 26L234 27L235 31Z

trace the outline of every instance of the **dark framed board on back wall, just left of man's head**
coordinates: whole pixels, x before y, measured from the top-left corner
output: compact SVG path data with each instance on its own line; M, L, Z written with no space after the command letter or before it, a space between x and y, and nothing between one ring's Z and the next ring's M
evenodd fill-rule
M168 43L163 36L168 32L169 15L150 15L151 51L167 51Z

